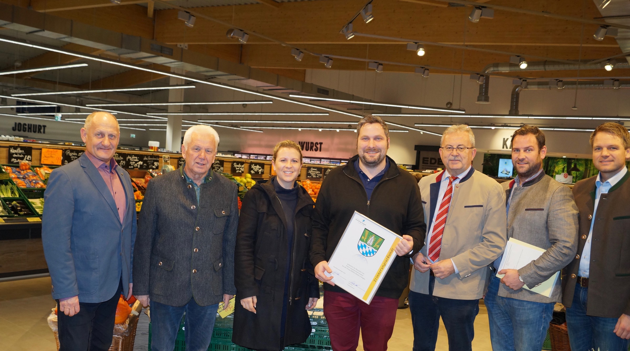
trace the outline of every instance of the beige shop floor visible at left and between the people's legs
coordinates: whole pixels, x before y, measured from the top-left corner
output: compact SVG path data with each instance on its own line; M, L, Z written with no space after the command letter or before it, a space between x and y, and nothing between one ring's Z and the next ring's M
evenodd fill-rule
M50 297L50 278L0 282L0 350L55 351L55 338L46 321L55 301ZM441 323L440 323L441 324ZM146 333L137 337L146 338ZM389 350L410 351L413 343L409 309L399 309ZM444 325L440 325L437 351L447 351L449 345ZM362 351L359 340L358 350ZM492 351L488 314L483 304L475 321L473 351Z

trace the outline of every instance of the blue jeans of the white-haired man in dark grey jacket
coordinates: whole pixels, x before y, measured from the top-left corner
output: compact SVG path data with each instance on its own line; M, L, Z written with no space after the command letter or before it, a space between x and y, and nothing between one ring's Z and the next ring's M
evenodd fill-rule
M151 350L173 351L181 316L186 312L186 351L206 351L210 346L217 308L219 304L199 306L195 298L180 307L151 301Z

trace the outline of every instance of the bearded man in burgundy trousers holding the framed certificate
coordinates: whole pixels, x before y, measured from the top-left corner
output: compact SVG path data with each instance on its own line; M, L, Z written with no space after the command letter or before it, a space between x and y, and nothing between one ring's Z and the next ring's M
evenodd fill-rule
M357 125L358 155L331 170L315 204L318 211L313 219L310 257L315 276L326 282L324 315L335 351L356 350L359 329L364 350L387 349L398 298L408 283L408 257L420 250L424 240L426 226L416 180L386 156L388 148L389 130L384 121L375 116L362 118ZM344 232L353 225L362 228L353 231L355 243L338 247L348 242ZM366 270L375 257L382 262L382 269L376 273L379 277L370 276L373 272ZM335 260L351 263L333 272L329 260L331 265ZM348 278L353 274L358 276L357 281ZM372 279L381 279L381 284L370 301L335 285L333 279L339 282L337 279L344 278L348 278L344 286L356 289Z

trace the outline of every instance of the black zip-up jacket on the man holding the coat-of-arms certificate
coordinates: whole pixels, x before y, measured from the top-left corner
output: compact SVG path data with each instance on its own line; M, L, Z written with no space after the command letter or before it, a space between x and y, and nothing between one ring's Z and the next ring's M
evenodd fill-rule
M358 211L398 235L413 238L413 251L403 257L396 256L375 295L398 299L409 281L409 257L418 253L427 233L418 182L387 157L389 170L368 201L354 167L357 158L355 155L346 165L331 170L321 186L315 204L318 211L313 220L311 263L314 267L330 259L352 214ZM345 292L330 284L324 284L324 289Z

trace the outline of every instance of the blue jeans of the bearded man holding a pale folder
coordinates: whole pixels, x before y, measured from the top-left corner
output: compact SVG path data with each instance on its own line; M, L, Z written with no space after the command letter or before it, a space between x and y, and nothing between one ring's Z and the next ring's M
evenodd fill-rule
M493 351L541 351L554 303L498 296L501 279L492 277L483 299L488 308Z

